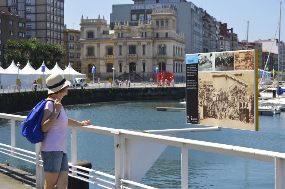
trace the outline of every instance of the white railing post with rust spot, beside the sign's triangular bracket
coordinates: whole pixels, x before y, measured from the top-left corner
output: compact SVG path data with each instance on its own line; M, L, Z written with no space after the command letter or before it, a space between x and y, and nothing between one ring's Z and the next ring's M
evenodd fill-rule
M115 134L115 189L121 188L121 179L125 178L125 138Z

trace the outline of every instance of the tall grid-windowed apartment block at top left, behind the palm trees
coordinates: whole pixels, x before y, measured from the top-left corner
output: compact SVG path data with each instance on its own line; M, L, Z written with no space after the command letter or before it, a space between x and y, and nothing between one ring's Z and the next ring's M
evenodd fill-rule
M64 0L3 0L0 7L26 18L26 37L64 46Z

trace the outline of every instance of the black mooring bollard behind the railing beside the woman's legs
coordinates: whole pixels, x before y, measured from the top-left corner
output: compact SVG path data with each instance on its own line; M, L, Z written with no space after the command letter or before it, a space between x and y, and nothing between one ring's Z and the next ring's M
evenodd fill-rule
M68 161L69 163L71 163L71 160ZM92 165L90 161L86 161L86 160L82 160L82 159L78 159L77 160L77 165L81 166L81 167L86 167L91 169ZM69 166L69 168L71 168L71 166ZM77 169L78 171L84 172L84 173L89 173L89 171L84 171L82 169ZM71 171L69 171L69 173L71 173ZM84 178L88 178L88 176L83 176L80 174L77 174L78 176L82 176ZM89 182L85 182L83 180L68 176L68 184L67 184L67 188L68 189L89 189Z

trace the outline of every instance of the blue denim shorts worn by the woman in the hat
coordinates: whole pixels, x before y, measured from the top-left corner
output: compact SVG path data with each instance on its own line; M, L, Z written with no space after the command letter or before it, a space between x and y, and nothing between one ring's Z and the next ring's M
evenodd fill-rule
M63 151L40 151L44 161L44 172L68 171L68 157Z

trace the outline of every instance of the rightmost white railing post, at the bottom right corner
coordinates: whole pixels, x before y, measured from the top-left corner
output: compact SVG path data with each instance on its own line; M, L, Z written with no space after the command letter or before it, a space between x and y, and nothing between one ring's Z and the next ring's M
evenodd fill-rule
M285 159L275 157L275 189L285 188Z

